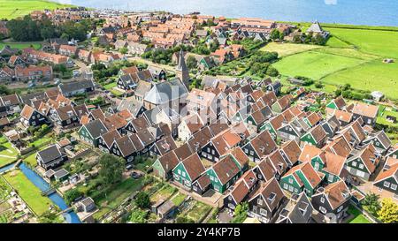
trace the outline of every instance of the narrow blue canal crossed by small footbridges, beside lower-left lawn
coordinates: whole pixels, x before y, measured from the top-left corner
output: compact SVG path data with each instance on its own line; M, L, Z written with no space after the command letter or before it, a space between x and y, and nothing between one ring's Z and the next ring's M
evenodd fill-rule
M9 168L10 169L10 168ZM19 165L19 169L22 173L29 179L35 186L37 186L42 192L47 191L50 188L50 184L47 183L42 177L40 177L34 170L29 169L25 163L21 163ZM0 171L1 173L2 171ZM65 200L59 195L57 192L51 193L49 199L57 205L61 210L65 210L68 206L65 203ZM68 223L80 223L80 219L76 213L70 211L64 214L65 220Z

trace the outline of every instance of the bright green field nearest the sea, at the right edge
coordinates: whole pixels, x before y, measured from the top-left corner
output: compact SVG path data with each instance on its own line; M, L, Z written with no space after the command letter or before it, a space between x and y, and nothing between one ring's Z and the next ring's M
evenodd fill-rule
M333 36L377 56L398 58L398 32L325 27Z

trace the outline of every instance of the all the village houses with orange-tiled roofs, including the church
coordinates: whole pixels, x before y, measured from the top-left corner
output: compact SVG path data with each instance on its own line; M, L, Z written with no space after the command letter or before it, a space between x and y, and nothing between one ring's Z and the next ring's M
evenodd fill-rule
M79 21L84 12L91 14L62 10L46 14L60 23ZM41 18L39 12L33 14ZM197 28L209 20L215 24L211 33ZM195 56L198 68L202 64L207 69L245 55L241 45L229 45L228 40L264 41L275 28L290 33L290 26L264 19L126 15L107 16L96 34L100 45L126 48L131 55L141 55L149 46L195 45L193 36L207 44L218 41L219 49L210 56ZM325 34L317 25L311 31ZM57 54L24 49L17 56L5 49L11 56L0 79L52 79L50 65L34 65L37 62L69 65L76 57L108 66L125 58L62 40L51 40L50 45ZM90 78L61 83L43 93L1 96L0 127L19 113L17 122L26 128L48 124L54 132L75 130L78 141L119 156L126 165L152 157L154 175L195 195L217 192L229 211L248 202L248 215L260 222L313 222L314 210L341 222L347 216L350 187L358 180L372 180L377 192L397 199L398 147L392 147L384 131L373 131L377 106L348 105L337 97L326 104L323 115L309 110L316 94L295 87L280 96L280 82L271 79L204 76L202 87L188 91L187 57L182 49L173 56L177 64L173 79L153 67L121 69L117 87L128 98L111 102L108 109L73 101L77 95L96 94ZM36 160L42 169L58 169L67 161L66 152L58 142L38 152Z

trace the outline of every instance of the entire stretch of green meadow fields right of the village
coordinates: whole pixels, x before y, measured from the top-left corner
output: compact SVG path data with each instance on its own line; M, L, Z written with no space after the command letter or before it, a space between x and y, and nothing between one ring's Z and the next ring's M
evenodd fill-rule
M279 53L273 65L285 78L300 75L326 86L350 84L398 99L398 29L365 27L326 25L332 37L325 46L272 42L262 50ZM395 62L384 64L385 58Z

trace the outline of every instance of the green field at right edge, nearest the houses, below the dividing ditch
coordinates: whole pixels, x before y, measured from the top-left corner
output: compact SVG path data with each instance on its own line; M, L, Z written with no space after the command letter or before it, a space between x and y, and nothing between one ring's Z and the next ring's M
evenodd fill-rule
M398 99L398 63L383 64L379 59L373 60L335 72L322 81L334 85L350 84L353 88L368 91L378 90L387 97Z

